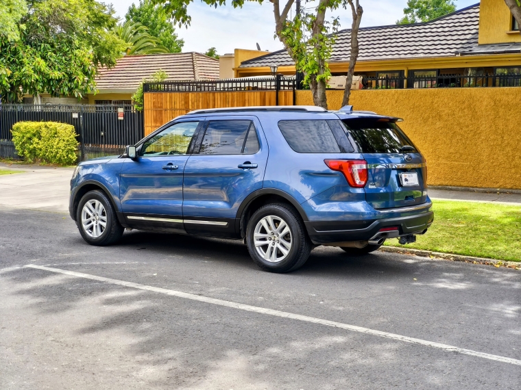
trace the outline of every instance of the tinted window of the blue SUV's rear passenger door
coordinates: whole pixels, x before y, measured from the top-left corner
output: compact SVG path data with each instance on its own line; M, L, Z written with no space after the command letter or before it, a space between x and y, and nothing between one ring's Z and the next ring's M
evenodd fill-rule
M251 120L210 120L200 155L251 155L258 152L258 138Z

